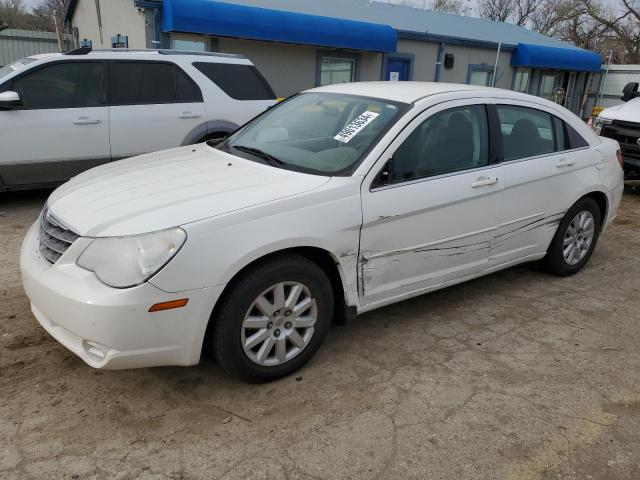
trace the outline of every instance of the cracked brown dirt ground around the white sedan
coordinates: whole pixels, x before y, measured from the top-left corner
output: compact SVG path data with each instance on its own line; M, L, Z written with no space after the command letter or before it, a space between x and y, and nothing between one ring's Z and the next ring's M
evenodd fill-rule
M572 278L529 266L334 327L267 385L97 371L39 327L0 194L0 478L640 478L640 194Z

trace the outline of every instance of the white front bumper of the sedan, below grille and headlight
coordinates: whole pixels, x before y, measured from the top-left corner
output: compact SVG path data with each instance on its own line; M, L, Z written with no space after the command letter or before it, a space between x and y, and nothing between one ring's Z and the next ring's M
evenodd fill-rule
M75 259L80 238L54 265L38 252L38 224L20 254L24 290L42 327L95 368L123 369L198 363L213 306L223 286L167 293L144 283L116 289ZM188 298L186 306L149 313L155 303Z

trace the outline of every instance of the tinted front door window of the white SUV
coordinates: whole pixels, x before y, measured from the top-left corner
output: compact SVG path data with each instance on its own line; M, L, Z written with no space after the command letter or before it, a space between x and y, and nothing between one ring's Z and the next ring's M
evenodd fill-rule
M39 68L13 80L24 108L82 108L103 105L100 62L64 62Z

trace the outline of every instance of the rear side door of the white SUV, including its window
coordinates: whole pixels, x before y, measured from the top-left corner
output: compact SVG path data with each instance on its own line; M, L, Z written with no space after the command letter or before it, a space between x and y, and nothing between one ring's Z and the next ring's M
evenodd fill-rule
M114 160L178 147L206 122L200 88L174 63L114 60L109 78Z

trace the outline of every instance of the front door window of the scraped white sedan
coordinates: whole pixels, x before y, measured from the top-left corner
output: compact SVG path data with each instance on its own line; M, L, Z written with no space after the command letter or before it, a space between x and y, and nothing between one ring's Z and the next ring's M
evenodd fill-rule
M393 155L392 183L442 175L489 163L487 112L470 105L426 119Z

